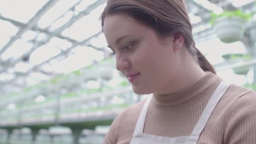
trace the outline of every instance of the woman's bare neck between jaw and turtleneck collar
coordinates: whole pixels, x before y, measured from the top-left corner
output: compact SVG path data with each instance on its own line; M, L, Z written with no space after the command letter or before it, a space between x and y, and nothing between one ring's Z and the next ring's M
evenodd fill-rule
M168 95L180 91L200 80L206 74L189 53L183 58L185 59L182 59L179 64L176 77L169 80L165 87L154 93L155 95Z

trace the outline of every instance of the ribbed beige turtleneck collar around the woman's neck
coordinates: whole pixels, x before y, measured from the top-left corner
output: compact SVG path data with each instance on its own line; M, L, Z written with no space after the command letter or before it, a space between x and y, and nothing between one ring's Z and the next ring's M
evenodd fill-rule
M171 106L182 104L186 101L202 93L205 89L211 86L219 77L211 72L206 72L206 74L197 80L192 85L187 88L183 88L180 91L167 95L153 95L152 101L159 106Z

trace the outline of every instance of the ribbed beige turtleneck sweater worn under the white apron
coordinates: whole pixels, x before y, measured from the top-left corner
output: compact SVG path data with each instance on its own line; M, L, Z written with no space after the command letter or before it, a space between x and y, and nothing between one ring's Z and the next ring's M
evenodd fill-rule
M221 79L204 77L176 93L152 97L143 133L189 136ZM145 100L113 121L103 144L129 144ZM197 144L256 144L256 91L230 85L208 120Z

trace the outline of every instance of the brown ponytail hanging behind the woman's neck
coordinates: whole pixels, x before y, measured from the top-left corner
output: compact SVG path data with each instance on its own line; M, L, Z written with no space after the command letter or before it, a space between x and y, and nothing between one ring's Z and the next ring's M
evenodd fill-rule
M195 47L195 49L197 50L197 61L198 61L198 64L203 69L203 71L205 71L205 72L209 71L209 72L212 72L213 74L216 74L215 69L213 68L211 63L205 58L203 53L201 53L201 51L199 51L196 47Z

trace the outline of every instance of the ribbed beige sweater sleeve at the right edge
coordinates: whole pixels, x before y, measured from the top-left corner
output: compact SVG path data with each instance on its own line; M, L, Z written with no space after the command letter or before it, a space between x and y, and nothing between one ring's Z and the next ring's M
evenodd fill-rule
M256 91L241 96L233 105L224 144L256 144Z

